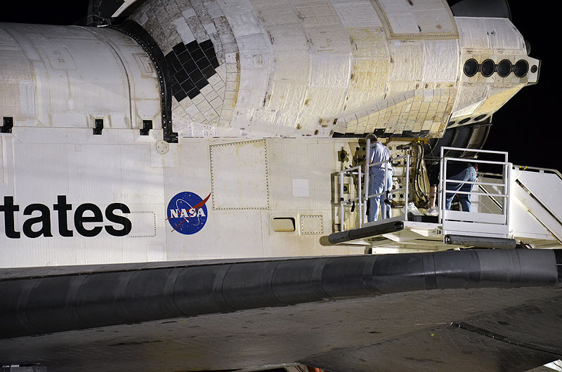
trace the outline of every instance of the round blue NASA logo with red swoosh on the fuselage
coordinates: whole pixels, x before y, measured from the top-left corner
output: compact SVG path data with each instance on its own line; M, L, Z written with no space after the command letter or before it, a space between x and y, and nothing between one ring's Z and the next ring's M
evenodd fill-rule
M202 199L195 192L184 191L171 198L168 204L166 220L173 230L180 234L191 235L199 232L207 223L207 200L211 194Z

